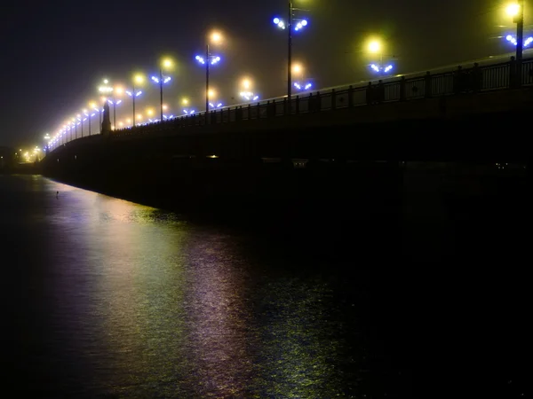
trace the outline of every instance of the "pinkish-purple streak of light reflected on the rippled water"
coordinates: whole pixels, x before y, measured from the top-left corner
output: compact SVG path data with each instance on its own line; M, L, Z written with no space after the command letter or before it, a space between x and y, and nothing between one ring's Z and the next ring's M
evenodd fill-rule
M187 313L189 356L202 397L248 397L253 344L245 276L223 236L192 239Z

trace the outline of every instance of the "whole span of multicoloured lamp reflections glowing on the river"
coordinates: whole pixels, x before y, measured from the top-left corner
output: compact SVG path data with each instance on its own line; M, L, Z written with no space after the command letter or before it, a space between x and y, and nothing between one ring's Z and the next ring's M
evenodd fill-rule
M34 347L20 362L41 391L351 397L327 279L271 272L241 251L250 238L42 177L11 179L0 184L24 199L18 234L45 243L33 248L38 278L20 309L40 320L39 331L21 327Z

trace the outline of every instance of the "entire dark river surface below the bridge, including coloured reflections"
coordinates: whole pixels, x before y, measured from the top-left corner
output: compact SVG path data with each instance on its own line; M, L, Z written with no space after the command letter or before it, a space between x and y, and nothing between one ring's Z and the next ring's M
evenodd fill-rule
M523 393L528 232L505 230L523 214L415 192L395 216L273 237L42 176L0 176L0 193L3 389L18 396Z

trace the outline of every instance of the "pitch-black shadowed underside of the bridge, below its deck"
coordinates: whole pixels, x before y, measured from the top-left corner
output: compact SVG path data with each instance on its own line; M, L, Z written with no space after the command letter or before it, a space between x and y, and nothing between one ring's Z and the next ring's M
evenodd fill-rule
M438 99L434 104L446 106ZM227 123L224 129L197 126L164 136L87 137L50 153L43 171L156 207L210 215L275 209L294 215L306 207L327 213L354 207L354 201L394 201L402 186L402 161L529 162L529 102L504 112L435 116L429 110L432 116L425 119L378 122L387 106L399 113L398 104L358 107L357 113L374 115L375 121L366 123L354 123L346 116L349 110L336 110L330 117L338 118L330 121L337 122L320 123L328 118L317 113L315 126L300 124L300 115L293 115L290 121L274 118L275 124L254 121L253 129L246 128L251 121L243 121L235 129ZM307 114L306 121L312 117Z

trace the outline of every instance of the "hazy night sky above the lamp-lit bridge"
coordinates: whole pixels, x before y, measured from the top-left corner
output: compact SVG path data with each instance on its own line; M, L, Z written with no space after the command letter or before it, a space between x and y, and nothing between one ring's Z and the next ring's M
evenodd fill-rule
M310 21L296 35L294 58L306 66L315 87L368 79L362 43L378 35L387 43L397 73L418 71L509 50L494 36L512 33L505 2L481 0L294 0ZM212 87L225 104L237 98L237 83L250 75L262 98L284 94L286 35L272 19L285 15L283 0L4 0L0 6L0 145L42 145L62 121L98 98L102 78L126 83L132 71L153 74L158 59L178 61L165 103L178 112L187 96L203 104L203 70L195 54L205 33L219 28L226 43L213 69ZM526 13L526 20L528 14ZM507 25L507 27L497 27ZM157 106L147 84L139 113ZM233 100L235 102L235 100ZM131 101L117 108L131 114ZM96 126L96 123L94 124Z

